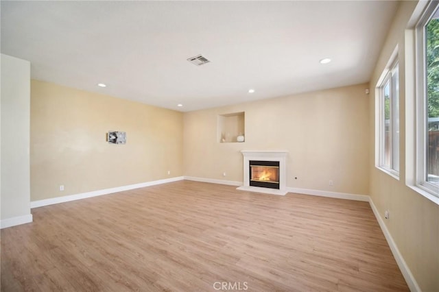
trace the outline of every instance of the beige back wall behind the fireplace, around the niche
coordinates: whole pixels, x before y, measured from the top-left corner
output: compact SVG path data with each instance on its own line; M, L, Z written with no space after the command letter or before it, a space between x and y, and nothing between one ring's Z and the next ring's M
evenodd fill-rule
M242 182L240 150L286 150L287 186L367 195L366 88L361 84L187 112L185 175ZM233 112L245 112L246 142L219 143L217 117Z

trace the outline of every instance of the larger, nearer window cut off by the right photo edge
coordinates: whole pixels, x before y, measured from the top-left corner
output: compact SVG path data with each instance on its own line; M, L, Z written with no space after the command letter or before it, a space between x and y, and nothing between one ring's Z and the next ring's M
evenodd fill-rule
M416 28L416 185L439 197L439 10L431 2Z

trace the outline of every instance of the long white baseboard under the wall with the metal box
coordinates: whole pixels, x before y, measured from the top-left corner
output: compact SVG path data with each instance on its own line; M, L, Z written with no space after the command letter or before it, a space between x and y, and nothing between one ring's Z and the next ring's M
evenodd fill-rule
M154 186L156 184L166 184L168 182L177 182L183 180L182 176L176 178L166 178L164 180L154 180L152 182L141 182L140 184L130 184L128 186L117 186L116 188L105 188L99 191L92 191L87 193L79 193L75 195L66 195L63 197L53 197L50 199L40 199L38 201L30 202L30 208L38 208L43 206L49 206L53 204L65 203L75 201L77 199L85 199L87 197L96 197L98 195L108 195L111 193L117 193L122 191L129 191L134 188L144 188L145 186Z

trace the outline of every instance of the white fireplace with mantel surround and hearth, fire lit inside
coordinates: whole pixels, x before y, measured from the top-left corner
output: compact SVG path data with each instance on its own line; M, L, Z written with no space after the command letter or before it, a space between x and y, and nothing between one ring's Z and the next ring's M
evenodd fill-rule
M285 195L287 151L241 151L244 156L244 183L237 189Z

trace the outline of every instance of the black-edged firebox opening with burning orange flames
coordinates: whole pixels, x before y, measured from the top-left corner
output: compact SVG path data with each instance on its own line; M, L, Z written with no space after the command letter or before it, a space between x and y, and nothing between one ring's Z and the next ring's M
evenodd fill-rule
M278 161L249 161L250 186L279 189Z

